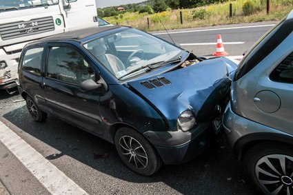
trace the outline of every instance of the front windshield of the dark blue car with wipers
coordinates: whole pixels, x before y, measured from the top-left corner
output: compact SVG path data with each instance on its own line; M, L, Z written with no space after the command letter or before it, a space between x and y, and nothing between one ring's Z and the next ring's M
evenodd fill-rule
M117 79L178 62L183 50L140 30L129 29L83 45Z

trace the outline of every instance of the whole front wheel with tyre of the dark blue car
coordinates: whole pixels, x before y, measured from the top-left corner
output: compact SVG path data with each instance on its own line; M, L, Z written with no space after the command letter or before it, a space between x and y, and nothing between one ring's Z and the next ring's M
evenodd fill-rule
M129 127L115 134L115 146L123 163L133 172L151 176L161 167L161 158L146 138Z

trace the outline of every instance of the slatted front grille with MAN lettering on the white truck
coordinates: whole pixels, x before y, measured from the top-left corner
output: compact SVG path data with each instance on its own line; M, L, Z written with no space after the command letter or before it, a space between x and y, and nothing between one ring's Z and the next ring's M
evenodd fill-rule
M0 25L0 35L2 40L16 39L19 37L39 34L54 30L52 17L32 19L30 21L18 21L4 23Z

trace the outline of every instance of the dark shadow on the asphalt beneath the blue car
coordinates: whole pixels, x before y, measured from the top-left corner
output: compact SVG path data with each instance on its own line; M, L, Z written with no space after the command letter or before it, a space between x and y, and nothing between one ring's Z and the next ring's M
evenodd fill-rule
M128 170L111 143L54 116L48 116L44 123L36 123L26 106L22 106L3 117L23 132L61 152L45 156L48 160L67 155L115 178L132 183L163 182L182 194L252 194L252 189L243 181L241 166L225 145L225 139L188 163L164 165L154 176L146 177ZM103 154L108 156L99 158Z

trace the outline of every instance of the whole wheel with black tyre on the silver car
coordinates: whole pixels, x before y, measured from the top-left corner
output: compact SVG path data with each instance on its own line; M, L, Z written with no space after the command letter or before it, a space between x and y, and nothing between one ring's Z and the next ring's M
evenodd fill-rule
M261 143L250 148L243 160L245 175L263 194L293 194L293 147ZM282 186L282 187L281 187Z

